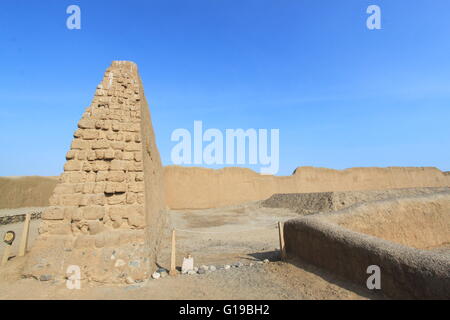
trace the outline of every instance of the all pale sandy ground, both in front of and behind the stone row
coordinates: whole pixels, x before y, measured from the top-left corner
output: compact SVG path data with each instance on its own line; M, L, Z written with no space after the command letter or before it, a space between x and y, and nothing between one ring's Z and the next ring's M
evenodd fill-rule
M0 299L380 299L301 262L280 262L276 223L297 216L287 209L261 208L250 203L222 209L170 211L168 228L158 257L169 267L170 237L177 229L177 265L190 253L196 265L215 265L219 270L203 275L179 275L135 285L108 286L82 283L69 290L64 282L21 279L24 258L14 258L0 272ZM0 227L17 230L22 223ZM30 246L37 234L33 221ZM18 243L18 241L17 241ZM3 250L3 244L0 250ZM17 252L14 250L13 252ZM263 264L263 259L271 260ZM224 264L245 266L220 269ZM249 266L250 263L253 266Z

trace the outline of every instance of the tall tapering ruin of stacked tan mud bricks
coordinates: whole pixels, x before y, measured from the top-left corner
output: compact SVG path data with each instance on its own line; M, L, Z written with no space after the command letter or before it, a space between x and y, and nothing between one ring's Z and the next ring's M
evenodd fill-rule
M58 273L71 264L101 282L147 277L165 204L160 156L134 63L115 61L107 69L66 159L28 273Z

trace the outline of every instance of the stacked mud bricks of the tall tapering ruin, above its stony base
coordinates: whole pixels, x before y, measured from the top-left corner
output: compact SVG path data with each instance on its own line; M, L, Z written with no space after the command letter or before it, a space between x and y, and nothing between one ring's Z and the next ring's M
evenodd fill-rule
M141 117L142 112L145 117ZM151 141L144 146L144 139ZM131 239L136 241L131 244L144 246L144 257L131 259L154 259L145 252L150 255L154 250L148 247L156 246L157 241L145 231L155 227L165 208L162 168L154 140L137 66L113 62L78 122L64 173L50 198L50 207L42 214L38 239L42 246L45 240L50 246L56 235L67 236L63 245L67 250L72 250L67 243L75 249L101 249ZM153 155L151 162L144 164L144 152ZM144 180L146 170L152 180ZM157 199L146 201L155 194L146 193L146 188L160 189ZM149 221L154 225L149 226ZM95 277L92 271L90 274Z

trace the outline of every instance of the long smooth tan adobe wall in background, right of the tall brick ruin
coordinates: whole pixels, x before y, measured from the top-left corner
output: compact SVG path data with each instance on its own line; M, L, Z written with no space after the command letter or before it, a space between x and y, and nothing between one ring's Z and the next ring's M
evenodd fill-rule
M450 176L436 168L300 167L292 176L260 175L245 168L164 168L166 201L172 209L204 209L264 200L277 193L448 187Z

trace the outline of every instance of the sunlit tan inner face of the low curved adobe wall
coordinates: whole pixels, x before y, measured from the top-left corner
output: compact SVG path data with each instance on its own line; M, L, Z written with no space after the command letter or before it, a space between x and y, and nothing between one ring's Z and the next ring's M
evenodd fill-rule
M450 244L450 191L364 204L327 219L408 247L444 247Z

